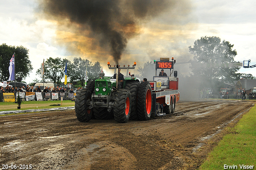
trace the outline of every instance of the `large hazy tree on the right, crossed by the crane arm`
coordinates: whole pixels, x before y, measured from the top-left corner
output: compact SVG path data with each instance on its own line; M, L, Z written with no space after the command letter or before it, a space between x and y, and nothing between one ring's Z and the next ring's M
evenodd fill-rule
M189 46L189 52L194 55L194 61L198 63L233 63L236 50L232 50L234 45L219 37L201 37L194 42L194 47ZM239 67L232 68L194 68L194 76L201 77L211 82L213 79L233 82L238 80L236 72Z

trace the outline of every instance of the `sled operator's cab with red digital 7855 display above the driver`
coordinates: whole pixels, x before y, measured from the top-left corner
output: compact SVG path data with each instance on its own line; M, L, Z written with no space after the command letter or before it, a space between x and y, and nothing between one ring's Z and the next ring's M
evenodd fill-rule
M160 58L160 61L154 60L154 64L156 64L156 74L153 76L153 81L150 82L153 91L161 89L178 90L177 71L174 71L175 63L176 60L174 60L173 57L172 61L170 61L170 58Z

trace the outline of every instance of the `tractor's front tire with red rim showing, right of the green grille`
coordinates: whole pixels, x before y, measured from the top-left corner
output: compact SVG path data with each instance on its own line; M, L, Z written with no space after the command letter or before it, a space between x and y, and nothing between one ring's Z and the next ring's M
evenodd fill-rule
M131 93L127 89L118 89L114 102L114 118L117 122L128 122L131 114Z

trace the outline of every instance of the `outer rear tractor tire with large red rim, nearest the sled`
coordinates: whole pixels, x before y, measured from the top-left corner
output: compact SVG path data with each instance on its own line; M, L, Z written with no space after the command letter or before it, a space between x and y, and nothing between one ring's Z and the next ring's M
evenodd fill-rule
M149 82L140 83L137 112L139 120L150 120L152 112L152 90Z

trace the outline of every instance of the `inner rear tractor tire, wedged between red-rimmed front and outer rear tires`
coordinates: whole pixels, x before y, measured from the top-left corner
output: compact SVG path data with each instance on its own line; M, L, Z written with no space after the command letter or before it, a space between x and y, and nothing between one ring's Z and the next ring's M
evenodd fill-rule
M131 93L131 114L130 114L130 120L136 120L138 119L137 116L137 94L138 94L138 88L140 86L140 82L128 82L124 88L129 90Z

